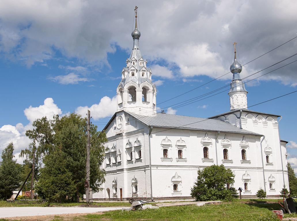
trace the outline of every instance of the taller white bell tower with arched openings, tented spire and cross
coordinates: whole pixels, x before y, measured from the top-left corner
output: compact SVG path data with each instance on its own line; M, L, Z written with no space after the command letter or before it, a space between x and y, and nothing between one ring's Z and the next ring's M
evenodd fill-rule
M137 9L135 6L135 29L132 31L133 49L126 67L122 70L122 80L116 90L117 111L126 110L139 115L156 114L156 85L151 81L151 69L142 58L139 49L140 31L137 28Z

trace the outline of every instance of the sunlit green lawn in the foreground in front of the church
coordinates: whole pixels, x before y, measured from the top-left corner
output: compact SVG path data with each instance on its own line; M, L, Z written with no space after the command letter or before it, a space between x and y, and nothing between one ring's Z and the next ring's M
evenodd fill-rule
M86 215L87 220L156 220L156 221L255 221L255 220L277 220L271 210L273 206L262 203L254 203L258 205L250 205L248 203L232 202L222 203L221 205L204 205L204 206L170 206L161 207L159 209L146 209L138 211L111 211L102 215L89 214ZM261 204L261 205L260 205Z

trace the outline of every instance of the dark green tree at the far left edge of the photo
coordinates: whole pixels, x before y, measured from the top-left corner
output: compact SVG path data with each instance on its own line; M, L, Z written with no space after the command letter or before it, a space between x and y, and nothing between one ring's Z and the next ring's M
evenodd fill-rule
M13 143L2 151L0 163L0 198L7 200L12 192L20 186L20 165L13 160Z

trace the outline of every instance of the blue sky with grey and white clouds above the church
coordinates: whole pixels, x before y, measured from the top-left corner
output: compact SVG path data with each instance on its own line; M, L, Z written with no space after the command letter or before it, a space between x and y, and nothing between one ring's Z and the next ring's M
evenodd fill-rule
M243 66L248 106L297 90L296 1L2 0L0 151L14 142L18 157L30 143L26 130L43 116L75 111L84 117L90 109L92 123L105 126L133 46L135 5L159 111L195 117L228 112L233 42L242 65L283 44ZM227 91L170 109L224 86ZM282 116L280 136L289 142L295 173L296 98L292 93L250 108Z

